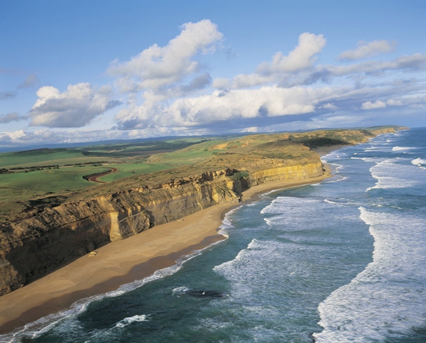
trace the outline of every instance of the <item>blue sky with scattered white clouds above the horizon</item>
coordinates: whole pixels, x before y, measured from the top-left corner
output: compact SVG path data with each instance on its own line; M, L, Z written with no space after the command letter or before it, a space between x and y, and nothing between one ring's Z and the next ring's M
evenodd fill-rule
M425 0L2 0L0 148L426 126Z

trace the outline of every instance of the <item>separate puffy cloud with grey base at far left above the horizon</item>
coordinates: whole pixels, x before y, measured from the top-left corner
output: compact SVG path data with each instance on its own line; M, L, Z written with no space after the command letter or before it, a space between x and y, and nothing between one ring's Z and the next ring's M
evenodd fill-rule
M51 86L38 89L29 115L31 126L82 127L94 117L118 105L110 87L95 89L89 83L69 85L65 92Z

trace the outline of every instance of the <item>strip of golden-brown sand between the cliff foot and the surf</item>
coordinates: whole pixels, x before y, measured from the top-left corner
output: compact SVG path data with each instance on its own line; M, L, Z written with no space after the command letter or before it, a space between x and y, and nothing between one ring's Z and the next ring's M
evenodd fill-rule
M330 170L327 170L318 178L257 185L243 193L243 202L239 205L254 201L258 195L271 190L319 183L329 175ZM0 334L66 310L77 300L151 276L161 268L173 266L178 258L224 239L217 234L224 214L239 205L215 205L136 236L111 242L97 249L97 254L82 256L48 276L1 296Z

